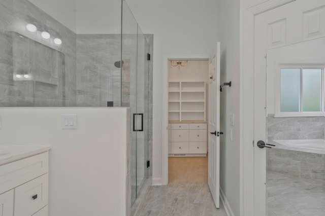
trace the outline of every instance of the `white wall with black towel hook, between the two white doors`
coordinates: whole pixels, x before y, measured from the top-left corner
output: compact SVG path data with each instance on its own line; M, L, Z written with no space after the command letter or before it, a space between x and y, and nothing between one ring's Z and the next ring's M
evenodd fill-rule
M232 81L220 93L220 187L234 213L240 215L240 0L217 1L218 40L221 42L221 83ZM230 125L230 114L235 125ZM233 130L233 141L230 139Z

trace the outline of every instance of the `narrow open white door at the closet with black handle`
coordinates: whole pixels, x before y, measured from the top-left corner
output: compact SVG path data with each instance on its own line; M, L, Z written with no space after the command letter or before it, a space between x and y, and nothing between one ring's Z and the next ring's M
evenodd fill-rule
M209 59L209 137L208 184L216 208L219 208L220 182L220 42Z

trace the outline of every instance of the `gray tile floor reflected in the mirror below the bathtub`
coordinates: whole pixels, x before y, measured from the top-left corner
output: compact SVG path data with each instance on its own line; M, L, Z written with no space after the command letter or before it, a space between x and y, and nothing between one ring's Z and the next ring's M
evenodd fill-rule
M268 171L268 216L325 216L325 181Z

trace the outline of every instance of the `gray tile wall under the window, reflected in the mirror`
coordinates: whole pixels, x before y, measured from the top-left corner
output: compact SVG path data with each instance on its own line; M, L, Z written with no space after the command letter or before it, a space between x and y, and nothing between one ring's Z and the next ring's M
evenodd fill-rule
M268 140L276 139L323 139L324 117L274 117L267 119Z

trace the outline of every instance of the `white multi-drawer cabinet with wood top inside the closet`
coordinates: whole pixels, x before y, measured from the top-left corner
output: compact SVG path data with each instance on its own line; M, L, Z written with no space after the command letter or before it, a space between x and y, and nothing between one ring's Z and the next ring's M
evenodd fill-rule
M183 122L170 121L168 133L169 156L206 156L207 123L204 121Z

